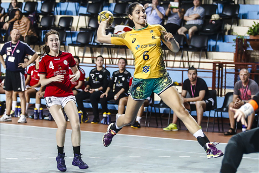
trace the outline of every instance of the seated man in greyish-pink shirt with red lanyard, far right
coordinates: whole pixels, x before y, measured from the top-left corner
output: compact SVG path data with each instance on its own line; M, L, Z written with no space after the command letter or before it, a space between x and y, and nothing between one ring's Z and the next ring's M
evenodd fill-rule
M253 96L259 92L258 84L252 80L249 79L249 72L247 69L243 68L239 72L240 80L236 82L234 86L234 95L233 95L233 101L229 104L229 108L232 107L234 109L239 109L242 105L245 103L248 103ZM247 130L250 130L252 128L254 119L254 112L247 117L248 125ZM234 135L235 134L235 118L234 118L234 112L232 112L229 109L229 121L230 121L230 128L228 132L225 132L224 135Z

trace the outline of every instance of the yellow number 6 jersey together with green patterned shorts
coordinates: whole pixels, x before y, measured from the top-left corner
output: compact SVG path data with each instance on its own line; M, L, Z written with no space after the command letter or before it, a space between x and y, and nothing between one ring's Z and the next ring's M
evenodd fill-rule
M134 79L128 94L134 100L145 100L152 92L162 93L172 85L163 61L161 25L149 25L145 28L112 34L113 45L126 45L135 59Z

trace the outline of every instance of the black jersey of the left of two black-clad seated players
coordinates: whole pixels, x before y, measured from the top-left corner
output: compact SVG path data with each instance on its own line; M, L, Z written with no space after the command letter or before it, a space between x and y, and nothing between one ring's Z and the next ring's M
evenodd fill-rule
M102 91L106 91L110 76L111 73L106 68L103 68L100 71L94 68L90 71L88 84L91 86L91 89L98 89L103 86Z

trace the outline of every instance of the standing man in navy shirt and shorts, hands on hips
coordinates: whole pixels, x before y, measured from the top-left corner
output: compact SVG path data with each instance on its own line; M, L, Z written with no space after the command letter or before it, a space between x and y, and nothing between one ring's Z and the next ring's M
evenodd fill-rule
M24 78L24 68L35 61L37 58L36 52L31 49L23 41L20 41L21 34L18 29L13 29L11 31L12 41L6 42L1 50L1 63L6 68L6 79L4 84L4 90L6 91L6 115L1 117L1 121L12 121L10 111L12 108L12 94L18 92L21 100L22 113L20 115L19 123L25 123L25 108L26 108L26 98L25 98L25 78ZM7 55L6 62L3 55ZM25 55L31 55L31 59L24 63Z

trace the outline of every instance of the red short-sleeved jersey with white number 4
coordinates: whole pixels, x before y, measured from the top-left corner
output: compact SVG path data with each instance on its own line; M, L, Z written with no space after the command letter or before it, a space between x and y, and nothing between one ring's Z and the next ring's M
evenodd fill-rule
M47 84L45 97L67 97L73 96L71 81L69 79L69 67L74 67L76 62L69 52L59 51L57 57L45 54L39 59L39 74L46 74L46 78L64 75L62 82L51 82Z

